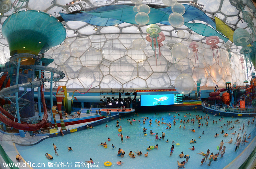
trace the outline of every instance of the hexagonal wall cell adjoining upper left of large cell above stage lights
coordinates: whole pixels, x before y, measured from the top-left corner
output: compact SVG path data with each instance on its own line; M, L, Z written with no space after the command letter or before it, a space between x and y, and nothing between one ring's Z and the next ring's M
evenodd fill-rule
M107 40L105 45L102 47L104 58L110 61L119 59L124 56L126 52L127 49L118 39Z

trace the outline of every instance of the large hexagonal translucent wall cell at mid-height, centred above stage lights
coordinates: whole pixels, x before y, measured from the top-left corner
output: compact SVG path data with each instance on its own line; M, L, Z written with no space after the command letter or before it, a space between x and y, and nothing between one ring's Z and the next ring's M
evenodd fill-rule
M138 76L137 63L126 55L112 62L110 74L121 83L126 83Z

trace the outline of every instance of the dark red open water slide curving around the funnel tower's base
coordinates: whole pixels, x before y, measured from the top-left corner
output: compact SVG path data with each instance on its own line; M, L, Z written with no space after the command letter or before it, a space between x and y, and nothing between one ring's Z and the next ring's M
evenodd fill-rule
M43 75L41 75L41 78L43 78ZM21 122L18 123L16 121L17 118L14 120L14 117L9 114L3 107L0 106L0 111L2 113L4 113L4 115L0 114L0 121L3 122L4 124L7 124L9 126L12 126L15 129L19 129L19 130L26 130L26 131L35 131L35 130L39 130L40 128L44 127L44 125L47 122L47 118L48 118L48 114L47 114L47 109L46 109L46 104L45 104L45 99L44 99L44 92L43 92L43 88L44 85L41 85L41 98L42 98L42 103L43 103L43 107L44 107L44 116L42 118L42 120L39 123L36 124L27 124L26 122ZM10 119L9 119L10 118Z

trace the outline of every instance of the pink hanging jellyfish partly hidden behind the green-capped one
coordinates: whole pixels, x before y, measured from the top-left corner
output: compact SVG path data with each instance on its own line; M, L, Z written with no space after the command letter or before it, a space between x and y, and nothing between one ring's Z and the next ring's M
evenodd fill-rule
M153 39L153 43L152 43L152 39L150 38L150 34L147 34L147 37L146 37L147 41L152 43L150 46L152 46L152 48L153 47L155 48L155 50L153 50L153 51L155 53L156 65L157 65L157 59L158 59L157 49L159 49L159 55L160 55L159 60L160 60L160 64L161 64L161 59L160 59L161 58L161 50L160 50L160 47L163 46L163 44L161 42L163 42L165 40L165 36L164 36L163 32L158 33L158 35L159 36L157 37L157 42L156 42L156 39ZM153 44L154 44L154 46L153 46Z

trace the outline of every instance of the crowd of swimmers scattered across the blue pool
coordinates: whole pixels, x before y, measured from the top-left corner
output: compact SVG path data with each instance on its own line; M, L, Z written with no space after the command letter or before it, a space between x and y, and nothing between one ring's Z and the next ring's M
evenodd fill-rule
M176 112L176 113L177 113L177 112ZM135 114L137 114L137 113L135 113ZM159 115L159 114L158 114L158 115ZM169 113L169 115L171 115L171 114ZM137 114L137 116L139 116L139 115ZM180 114L178 114L177 116L179 117ZM192 114L190 114L190 113L189 113L189 114L186 114L184 117L187 117L187 116L193 117L193 118L190 118L190 119L188 119L187 121L185 121L185 120L179 119L178 117L176 117L176 116L174 115L173 117L171 117L171 118L173 118L173 125L176 125L176 121L180 121L180 123L183 123L183 124L186 124L186 123L193 123L193 124L195 124L195 119L196 119L197 122L198 122L198 128L200 128L200 127L203 127L204 124L205 124L206 127L207 127L207 126L208 126L208 121L210 120L210 116L208 116L207 113L206 113L206 115L205 115L204 117L203 117L203 116L200 117L200 116L197 116L197 115L193 115L193 116L192 116ZM215 116L215 115L214 115L214 116ZM141 118L143 118L143 124L145 124L146 121L149 119L148 117L141 117ZM251 124L251 125L254 124L254 119L255 119L255 118L256 118L256 117L254 116L254 118L252 118L252 121L251 121L251 122L250 122L250 119L248 120L248 122L247 122L247 127L249 127L250 124ZM175 119L176 119L176 120L175 120ZM203 119L205 119L205 123L204 123L204 124L203 124L203 122L202 122ZM221 117L221 119L222 119L222 120L219 119L219 121L223 123L224 119L223 119L222 117ZM119 118L119 120L121 120L121 118ZM164 120L164 118L162 118L161 120ZM133 119L133 118L132 118L132 120L131 120L131 119L127 119L127 122L129 122L130 125L132 125L132 122L135 122L135 121L136 121L136 120ZM138 122L140 123L140 120L138 120ZM171 123L164 123L163 121L160 123L160 120L157 120L157 119L155 120L155 123L156 123L157 125L165 124L165 125L167 126L167 127L166 127L167 130L168 130L168 129L171 129L171 127L172 127L172 124L171 124ZM216 121L213 120L213 124L214 124L214 123L218 123L217 120L216 120ZM224 127L227 128L226 130L234 130L234 129L237 127L237 126L235 127L234 125L231 126L232 123L233 123L233 121L227 121L227 123L224 123L223 126L220 126L220 128L221 128L221 130L222 130L222 131L220 132L220 134L222 134L222 136L223 136L224 138L228 136L228 132L227 132L227 133L224 132L224 130L225 130ZM151 124L152 124L152 119L149 120L149 125L151 125ZM236 124L240 124L239 119L235 120L234 124L235 124L235 125L236 125ZM228 126L231 126L231 127L229 128ZM108 127L107 124L106 124L106 127ZM120 127L120 128L119 128L119 127ZM254 127L256 127L256 124L254 125ZM92 127L92 126L89 127L89 125L87 125L87 129L89 129L89 128L93 128L93 127ZM119 131L122 131L122 126L119 126L119 121L118 121L118 120L116 121L116 128L119 128L118 130L119 130ZM181 125L180 125L180 128L181 128ZM237 128L239 128L239 127L237 127ZM240 129L238 129L238 131L240 131L240 132L241 132L241 130L242 130L241 133L244 133L243 136L242 136L242 134L241 134L241 136L240 136L240 132L238 132L238 134L237 134L237 136L236 136L236 133L237 133L236 131L233 132L233 133L232 133L232 132L230 133L230 134L233 135L233 137L236 136L236 141L235 141L235 143L234 143L234 144L236 144L235 152L236 152L236 150L239 148L240 144L241 144L241 145L243 145L243 144L245 145L246 143L249 143L246 139L250 139L250 138L251 138L251 133L249 134L249 136L247 136L246 131L244 132L244 128L245 128L245 124L243 123L243 126L240 127ZM184 125L184 126L183 126L183 130L185 130L185 129L186 129L186 127L185 127L185 125ZM142 128L142 130L143 130L144 135L146 136L146 135L147 135L147 134L146 134L146 133L147 133L147 132L146 132L147 129L144 127L144 128ZM195 129L190 129L190 130L191 130L191 132L195 132ZM224 133L225 133L225 134L224 134ZM164 131L162 131L162 136L161 136L161 137L158 136L158 133L153 133L152 130L150 130L149 134L150 134L150 135L155 135L155 140L164 140L164 138L165 138L165 133L164 133ZM202 132L202 134L204 135L204 131ZM213 137L219 137L220 134L217 134L217 133L216 133ZM123 142L124 135L121 133L121 134L118 134L118 136L120 136L121 141ZM227 143L227 144L232 144L232 143L233 143L233 137L231 137L231 139L230 139L228 142L226 142L226 143ZM126 139L129 139L130 137L129 137L129 136L125 136L125 138L126 138ZM198 138L200 139L201 136L199 136ZM111 141L111 139L110 139L109 137L108 137L108 141ZM167 139L165 142L168 143L169 140ZM191 139L191 140L189 141L189 143L190 143L190 144L195 144L195 143L196 143L196 139L195 139L195 138ZM174 152L174 145L175 145L175 144L176 144L176 145L179 145L179 143L176 143L175 141L172 140L172 146L171 146L171 148L170 148L170 156L172 156L172 154L173 154L173 152ZM101 143L101 144L99 144L99 145L102 145L104 148L107 148L107 147L108 147L108 145L107 145L106 142ZM58 152L57 152L57 150L58 150L57 146L53 144L53 148L54 148L55 154L56 154L56 155L59 155ZM114 146L114 145L112 144L112 149L114 149L114 148L116 148L116 146ZM148 148L146 149L146 151L150 151L150 150L152 150L152 149L157 149L157 150L158 150L158 144L156 144L155 146L148 146ZM192 146L192 148L189 148L189 149L190 149L191 151L194 151L194 150L195 150L194 145ZM201 165L203 165L203 163L207 161L207 158L209 159L208 165L211 165L211 162L212 162L212 161L217 161L219 155L221 155L220 158L223 157L223 155L224 155L225 152L226 152L226 146L224 146L224 141L223 141L223 140L222 140L222 141L220 142L220 144L217 146L217 149L219 150L219 152L218 152L218 153L215 153L215 154L214 154L213 152L210 154L210 150L209 150L209 149L206 151L206 153L204 153L204 152L202 152L202 151L200 151L200 153L196 153L196 154L200 154L200 155L203 156L203 159L201 160ZM71 147L68 147L68 151L73 151L73 150L72 150ZM136 156L143 156L143 153L142 153L141 151L139 151L139 150L134 151L134 152L135 152L135 153L133 153L132 151L129 152L128 155L129 155L130 158L136 158ZM117 151L117 156L120 156L121 158L123 158L124 155L125 155L125 151L124 151L123 149L119 148L118 151ZM50 160L53 159L52 155L49 154L49 153L46 153L45 156L46 156L46 158L48 158L48 159L50 159ZM144 157L148 157L148 152L144 154ZM185 158L185 160L183 160L183 161L181 160L181 162L179 162L179 160L177 161L178 168L182 168L182 167L185 168L185 164L188 163L188 160L189 160L189 158L190 158L190 155L188 155L188 154L184 155L184 153L183 153L183 151L182 151L181 154L179 154L179 157L180 157L180 158ZM16 156L16 160L17 160L17 161L21 161L20 155L17 155L17 156ZM89 161L86 161L86 162L88 162L88 163L93 163L93 160L92 160L92 158L90 158L90 160L89 160ZM122 161L117 161L117 162L116 162L117 165L122 165L123 163L124 163L124 162L122 162Z

